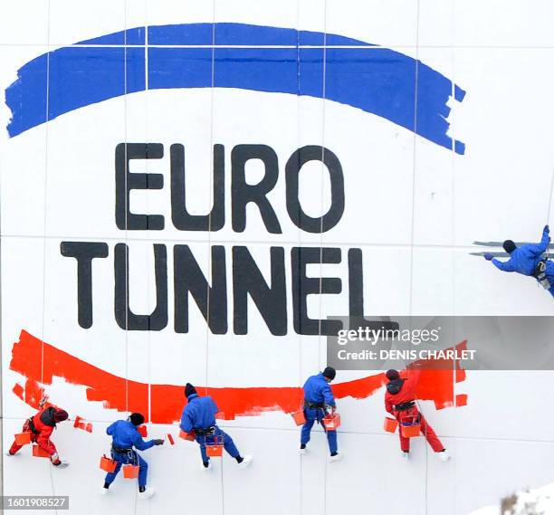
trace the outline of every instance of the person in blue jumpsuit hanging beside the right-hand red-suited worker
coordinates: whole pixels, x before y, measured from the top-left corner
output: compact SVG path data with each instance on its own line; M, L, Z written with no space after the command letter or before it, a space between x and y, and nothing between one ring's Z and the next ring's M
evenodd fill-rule
M335 397L330 388L330 382L336 375L337 371L333 367L326 367L320 374L308 377L308 380L304 383L304 417L306 422L302 425L301 431L301 454L306 453L306 444L310 442L310 432L313 424L316 421L321 424L321 420L325 415L328 415L329 411L335 413L337 409ZM330 461L337 462L342 458L342 453L339 453L337 445L337 432L328 431L323 424L321 425L327 433Z

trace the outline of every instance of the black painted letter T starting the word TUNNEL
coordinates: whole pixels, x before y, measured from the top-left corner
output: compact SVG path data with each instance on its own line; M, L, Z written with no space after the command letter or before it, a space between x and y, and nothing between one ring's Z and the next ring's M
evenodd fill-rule
M92 325L92 260L108 257L106 243L62 242L62 256L77 260L77 306L79 325L89 329Z

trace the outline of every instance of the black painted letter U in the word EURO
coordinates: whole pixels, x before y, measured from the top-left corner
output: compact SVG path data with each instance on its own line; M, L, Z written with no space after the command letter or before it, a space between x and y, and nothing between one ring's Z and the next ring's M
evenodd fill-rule
M186 210L185 147L172 145L171 219L179 231L219 231L225 223L225 148L214 145L214 206L209 215L190 215Z

